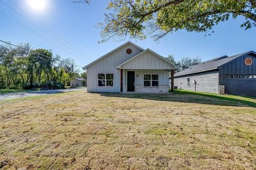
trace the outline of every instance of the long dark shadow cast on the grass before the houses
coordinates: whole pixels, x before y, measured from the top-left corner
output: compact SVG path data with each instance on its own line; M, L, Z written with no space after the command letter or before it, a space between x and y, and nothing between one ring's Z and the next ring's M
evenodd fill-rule
M217 94L201 94L193 91L175 90L174 94L110 94L101 93L106 97L122 97L122 98L135 98L147 99L158 101L173 101L182 103L195 103L195 104L208 104L219 106L250 106L256 107L256 101L250 101L250 98L239 97L230 98L226 95ZM253 99L252 99L253 100Z

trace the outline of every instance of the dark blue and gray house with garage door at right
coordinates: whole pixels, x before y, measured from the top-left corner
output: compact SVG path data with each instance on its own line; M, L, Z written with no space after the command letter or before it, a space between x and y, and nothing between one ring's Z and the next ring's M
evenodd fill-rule
M178 89L256 96L256 53L221 56L174 74Z

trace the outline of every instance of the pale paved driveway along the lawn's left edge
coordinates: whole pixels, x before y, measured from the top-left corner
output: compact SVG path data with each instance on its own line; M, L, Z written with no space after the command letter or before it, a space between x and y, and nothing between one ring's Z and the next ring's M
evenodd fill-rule
M86 88L70 88L70 89L58 89L58 90L28 91L28 92L11 92L9 94L0 94L0 100L42 96L42 95L49 95L49 94L59 94L62 92L80 91L80 90L86 91Z

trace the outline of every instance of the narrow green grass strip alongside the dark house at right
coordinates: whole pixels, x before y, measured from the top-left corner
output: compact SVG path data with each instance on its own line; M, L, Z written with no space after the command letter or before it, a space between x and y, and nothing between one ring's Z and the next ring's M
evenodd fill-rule
M236 95L219 95L213 94L210 92L198 92L198 91L189 91L189 90L174 90L175 94L185 94L185 95L198 95L204 97L212 97L220 100L234 101L241 103L247 106L256 107L256 97L245 97L245 96L236 96Z

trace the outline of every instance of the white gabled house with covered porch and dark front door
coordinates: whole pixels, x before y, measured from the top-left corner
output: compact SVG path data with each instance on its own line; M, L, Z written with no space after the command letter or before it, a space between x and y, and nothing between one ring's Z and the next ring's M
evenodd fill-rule
M177 66L130 41L83 67L88 92L169 92L169 72ZM173 86L172 86L173 90Z

